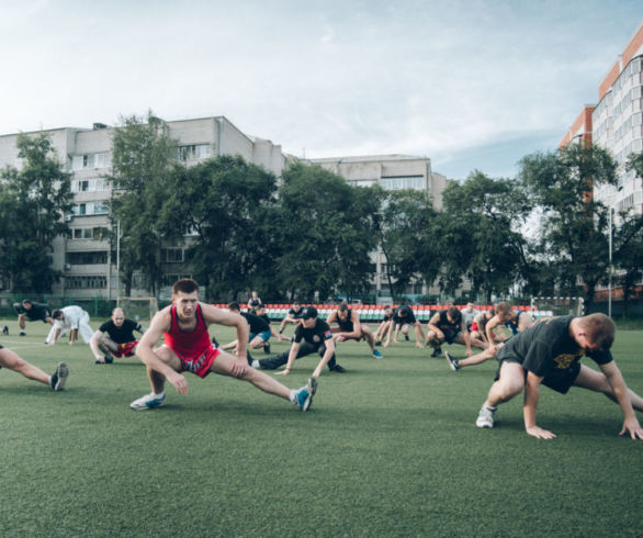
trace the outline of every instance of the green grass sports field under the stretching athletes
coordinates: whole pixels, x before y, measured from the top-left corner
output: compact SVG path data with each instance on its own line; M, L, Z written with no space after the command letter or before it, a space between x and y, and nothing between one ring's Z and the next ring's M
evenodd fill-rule
M214 374L190 376L184 396L168 385L165 407L134 412L149 392L137 359L95 366L88 346L45 347L44 324L19 338L7 323L0 344L48 372L65 360L70 377L54 393L0 371L3 537L643 533L643 441L618 436L621 411L599 394L543 390L539 425L554 440L524 434L519 397L481 430L494 361L452 372L413 341L382 360L345 343L348 373L324 372L309 413ZM614 347L639 393L642 343L642 332L621 332ZM280 379L301 386L316 360Z

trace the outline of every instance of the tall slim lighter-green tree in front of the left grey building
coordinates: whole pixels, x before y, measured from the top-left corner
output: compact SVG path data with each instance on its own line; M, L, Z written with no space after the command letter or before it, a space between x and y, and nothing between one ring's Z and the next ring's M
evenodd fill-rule
M171 197L170 176L177 164L177 142L169 136L162 120L148 112L147 117L122 119L112 139L111 218L120 221L121 276L125 294L140 270L153 294L160 279L160 249L163 240L178 236L171 227L159 228L159 215ZM179 215L180 216L180 215ZM116 226L112 226L113 229Z

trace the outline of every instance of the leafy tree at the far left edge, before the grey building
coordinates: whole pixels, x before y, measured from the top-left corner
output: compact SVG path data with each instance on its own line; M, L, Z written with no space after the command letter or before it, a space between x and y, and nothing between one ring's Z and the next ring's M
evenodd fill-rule
M0 182L0 271L14 291L46 293L60 277L52 267L52 244L69 232L70 175L47 135L20 134L16 147L23 167L7 167Z

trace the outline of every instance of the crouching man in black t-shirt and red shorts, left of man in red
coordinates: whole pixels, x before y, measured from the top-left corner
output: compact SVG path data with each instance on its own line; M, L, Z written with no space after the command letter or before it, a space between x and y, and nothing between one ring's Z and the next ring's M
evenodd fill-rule
M103 323L89 340L95 363L111 363L114 357L134 357L138 344L134 330L145 333L138 322L125 318L123 309L114 309L110 321Z

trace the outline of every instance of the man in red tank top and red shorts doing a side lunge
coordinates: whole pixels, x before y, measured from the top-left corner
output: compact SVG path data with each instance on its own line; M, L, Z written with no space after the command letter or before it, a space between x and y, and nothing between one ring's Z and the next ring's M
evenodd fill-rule
M212 324L237 328L236 357L212 345L207 332ZM155 349L161 336L165 337L163 345ZM289 389L248 366L247 341L248 324L244 317L199 302L199 284L192 279L178 280L172 288L172 304L154 316L136 348L136 356L147 366L153 392L135 400L129 406L144 411L163 405L166 379L179 394L187 394L188 380L181 372L192 372L200 378L214 372L249 381L263 392L281 396L302 411L308 411L317 390L316 379L311 378L298 390Z

